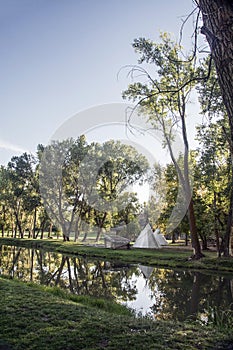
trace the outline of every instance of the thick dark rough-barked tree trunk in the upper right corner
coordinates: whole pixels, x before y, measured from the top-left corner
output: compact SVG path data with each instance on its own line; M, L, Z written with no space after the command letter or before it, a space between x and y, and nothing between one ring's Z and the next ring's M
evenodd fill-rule
M233 168L233 2L230 0L199 0L203 27L215 62L223 102L230 125L230 149ZM233 169L232 169L233 171ZM232 195L231 195L232 198ZM229 209L229 220L225 236L224 255L230 254L233 232L233 201Z

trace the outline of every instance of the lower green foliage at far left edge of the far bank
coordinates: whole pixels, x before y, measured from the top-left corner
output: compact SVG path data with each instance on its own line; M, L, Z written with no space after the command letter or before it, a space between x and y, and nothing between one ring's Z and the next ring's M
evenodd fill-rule
M12 157L7 167L1 167L0 189L2 232L7 227L21 237L26 229L35 235L36 212L41 207L36 159L27 153Z

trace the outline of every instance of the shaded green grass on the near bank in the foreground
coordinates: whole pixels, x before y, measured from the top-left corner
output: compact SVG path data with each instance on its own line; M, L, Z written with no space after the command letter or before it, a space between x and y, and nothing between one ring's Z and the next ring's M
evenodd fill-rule
M213 350L233 342L231 329L135 318L106 305L0 278L0 349Z

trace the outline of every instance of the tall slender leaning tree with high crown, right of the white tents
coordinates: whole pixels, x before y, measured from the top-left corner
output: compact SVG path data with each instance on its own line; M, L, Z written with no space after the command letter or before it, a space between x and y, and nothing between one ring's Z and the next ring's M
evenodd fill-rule
M140 72L146 82L130 84L123 97L137 101L144 115L155 129L160 129L164 136L172 162L182 185L185 202L188 204L188 217L191 232L193 258L203 255L198 239L196 220L193 208L189 174L189 143L186 129L186 109L190 92L193 88L195 64L190 57L181 59L181 47L171 40L166 33L161 35L162 43L153 43L144 38L136 39L133 48L140 54L139 64L153 64L155 76L141 66L132 72ZM173 141L175 133L181 128L184 145L183 164L177 162L174 155Z

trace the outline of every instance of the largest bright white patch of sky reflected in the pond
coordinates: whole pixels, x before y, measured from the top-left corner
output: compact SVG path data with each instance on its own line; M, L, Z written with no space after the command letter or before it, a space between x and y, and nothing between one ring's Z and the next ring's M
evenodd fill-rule
M143 266L143 268L145 267ZM122 283L124 283L124 280ZM158 288L155 287L152 293L151 288L148 286L148 279L143 272L139 276L133 274L130 279L130 285L135 286L137 289L136 299L133 301L127 300L123 305L133 309L137 315L153 315L151 307L156 304L157 298L161 295Z

